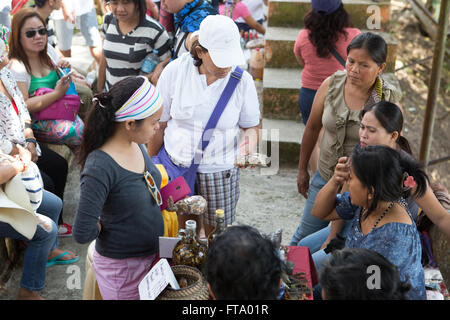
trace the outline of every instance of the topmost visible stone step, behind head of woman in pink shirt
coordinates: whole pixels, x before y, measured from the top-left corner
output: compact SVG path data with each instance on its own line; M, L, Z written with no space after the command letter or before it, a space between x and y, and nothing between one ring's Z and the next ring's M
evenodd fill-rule
M355 28L389 29L390 0L343 0ZM311 9L310 0L270 0L268 26L303 28L303 17Z

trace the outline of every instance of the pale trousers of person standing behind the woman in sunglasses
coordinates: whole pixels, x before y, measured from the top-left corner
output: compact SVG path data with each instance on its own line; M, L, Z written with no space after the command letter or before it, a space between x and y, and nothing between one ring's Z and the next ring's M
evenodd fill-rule
M62 19L55 19L54 22L56 36L58 38L58 48L63 51L70 50L72 47L73 25ZM88 47L98 47L102 44L95 9L81 16L77 16L76 22L80 26L81 34L86 40Z

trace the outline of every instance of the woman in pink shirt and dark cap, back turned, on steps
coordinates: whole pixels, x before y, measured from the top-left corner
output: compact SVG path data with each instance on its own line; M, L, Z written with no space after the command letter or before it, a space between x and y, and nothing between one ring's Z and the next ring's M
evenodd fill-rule
M330 49L335 48L345 61L347 46L361 33L359 29L350 28L350 17L341 0L312 0L311 5L312 9L304 17L305 28L294 46L295 57L303 67L298 104L304 124L321 83L337 70L344 70Z

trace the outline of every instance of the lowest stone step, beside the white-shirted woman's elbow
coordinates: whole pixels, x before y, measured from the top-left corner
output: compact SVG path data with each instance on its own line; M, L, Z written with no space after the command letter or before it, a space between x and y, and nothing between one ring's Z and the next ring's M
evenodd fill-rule
M293 120L277 120L263 118L262 140L267 147L264 152L279 164L297 164L300 154L300 144L305 125Z

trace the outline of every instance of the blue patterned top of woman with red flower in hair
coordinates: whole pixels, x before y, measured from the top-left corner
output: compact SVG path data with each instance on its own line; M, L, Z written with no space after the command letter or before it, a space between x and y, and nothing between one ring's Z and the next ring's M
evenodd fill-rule
M407 208L403 199L399 200L399 203ZM342 219L352 220L345 246L366 248L383 255L398 267L402 281L409 280L412 289L407 293L407 298L425 300L425 273L421 263L422 245L414 220L410 225L398 222L386 223L364 235L360 225L361 209L351 203L349 192L336 196L336 212Z

